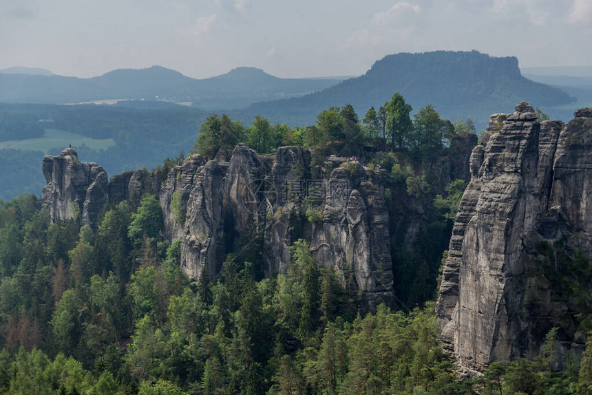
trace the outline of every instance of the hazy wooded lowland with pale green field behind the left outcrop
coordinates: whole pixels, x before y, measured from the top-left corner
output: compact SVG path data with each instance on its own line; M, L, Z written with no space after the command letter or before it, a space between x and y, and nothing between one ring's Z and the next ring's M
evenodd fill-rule
M181 106L0 105L0 198L20 192L39 195L45 184L43 156L69 145L87 160L103 163L110 175L154 167L189 150L206 116ZM105 142L110 142L107 147Z

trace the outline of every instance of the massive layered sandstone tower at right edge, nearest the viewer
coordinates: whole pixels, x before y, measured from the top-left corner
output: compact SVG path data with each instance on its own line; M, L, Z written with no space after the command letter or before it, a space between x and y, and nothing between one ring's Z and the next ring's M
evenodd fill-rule
M577 306L549 277L578 276L541 252L592 252L592 111L575 116L540 123L522 102L492 115L473 150L436 305L443 347L465 374L536 356L553 326L562 352L583 347Z

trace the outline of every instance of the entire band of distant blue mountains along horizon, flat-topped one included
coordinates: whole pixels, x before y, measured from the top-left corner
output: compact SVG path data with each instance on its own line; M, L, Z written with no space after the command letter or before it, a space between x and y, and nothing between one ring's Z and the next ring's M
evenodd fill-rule
M18 70L25 74L14 74ZM581 74L579 69L571 70L570 76L558 76L564 70L527 70L539 82L520 73L517 58L498 58L477 51L393 54L374 63L366 74L345 80L278 78L254 67L238 67L204 79L160 66L119 69L93 78L13 68L11 74L0 72L0 103L124 100L118 104L143 109L167 109L173 103L183 103L227 112L244 122L261 114L273 122L294 126L313 124L323 109L346 103L353 105L362 118L370 106L378 109L400 92L414 111L431 104L445 118L472 118L478 127L484 127L490 114L513 111L522 100L540 107L552 118L570 119L576 97L580 102L587 97L582 84L592 83L588 77L573 75L576 71ZM555 74L542 75L545 72Z

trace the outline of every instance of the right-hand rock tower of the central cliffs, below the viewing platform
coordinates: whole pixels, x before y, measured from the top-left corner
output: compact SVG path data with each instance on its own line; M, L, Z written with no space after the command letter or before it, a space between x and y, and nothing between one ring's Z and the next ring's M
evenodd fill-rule
M319 265L334 270L345 288L366 292L373 308L392 299L388 210L378 172L354 169L353 176L342 168L330 173L323 220L313 224L310 246Z

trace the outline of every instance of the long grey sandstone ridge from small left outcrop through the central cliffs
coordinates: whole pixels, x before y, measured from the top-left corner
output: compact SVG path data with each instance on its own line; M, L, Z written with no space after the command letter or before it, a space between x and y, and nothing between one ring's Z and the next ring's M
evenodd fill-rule
M445 186L451 176L467 177L465 145L472 147L473 138L458 142L454 158L434 164L441 170L438 185ZM246 244L256 246L266 277L288 273L289 247L302 238L317 264L333 270L350 292L361 292L370 308L393 299L392 243L399 237L412 248L425 222L421 204L411 198L402 206L413 206L412 213L390 219L384 170L337 157L313 165L310 150L302 147L280 147L274 157L244 144L220 150L213 160L192 155L162 182L160 173L142 169L107 182L101 167L78 162L72 149L46 157L44 172L48 184L42 201L54 221L71 218L74 202L83 224L96 228L105 204L158 194L162 236L180 242L180 265L191 279L204 270L218 276L229 253L240 257L236 246L244 237L252 238Z

